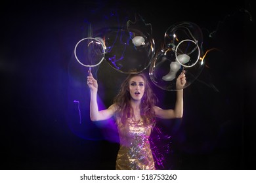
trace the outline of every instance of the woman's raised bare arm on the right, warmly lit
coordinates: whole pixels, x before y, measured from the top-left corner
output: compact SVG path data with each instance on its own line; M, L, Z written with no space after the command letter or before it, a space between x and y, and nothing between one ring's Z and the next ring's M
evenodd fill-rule
M186 84L185 72L182 71L181 75L177 78L176 88L177 96L174 109L162 109L155 107L156 116L162 119L182 118L183 116L183 87Z

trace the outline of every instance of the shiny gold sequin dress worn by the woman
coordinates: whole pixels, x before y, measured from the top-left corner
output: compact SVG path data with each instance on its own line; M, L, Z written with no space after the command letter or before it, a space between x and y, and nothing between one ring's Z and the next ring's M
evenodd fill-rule
M116 159L117 170L153 170L155 169L150 137L152 127L144 126L143 120L127 119L125 125L117 122L120 148Z

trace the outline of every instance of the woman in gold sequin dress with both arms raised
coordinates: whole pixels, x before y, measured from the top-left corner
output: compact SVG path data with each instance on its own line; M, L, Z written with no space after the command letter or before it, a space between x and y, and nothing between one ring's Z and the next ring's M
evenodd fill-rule
M177 78L177 99L174 109L156 106L158 99L142 73L127 76L114 103L104 110L98 110L98 84L91 71L87 76L87 84L91 89L91 120L107 120L112 116L116 118L120 140L116 169L155 169L148 139L156 124L156 118L182 118L182 88L186 84L184 71Z

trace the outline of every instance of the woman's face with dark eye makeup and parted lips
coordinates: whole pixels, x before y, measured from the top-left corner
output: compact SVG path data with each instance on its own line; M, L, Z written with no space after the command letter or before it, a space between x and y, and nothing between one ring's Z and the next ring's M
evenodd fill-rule
M140 101L144 95L145 83L141 76L134 76L129 82L131 99Z

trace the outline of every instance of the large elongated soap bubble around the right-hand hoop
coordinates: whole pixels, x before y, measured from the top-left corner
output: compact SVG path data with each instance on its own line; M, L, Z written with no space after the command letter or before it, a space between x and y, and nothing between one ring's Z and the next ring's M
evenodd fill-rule
M150 64L150 79L163 90L177 90L176 79L186 71L186 85L192 84L202 72L203 35L192 22L178 22L165 32L163 48Z

